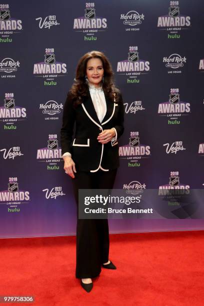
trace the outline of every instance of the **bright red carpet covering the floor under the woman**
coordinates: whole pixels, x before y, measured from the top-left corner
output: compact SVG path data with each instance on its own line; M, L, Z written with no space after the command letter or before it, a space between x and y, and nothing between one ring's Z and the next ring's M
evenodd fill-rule
M27 305L201 306L203 251L204 231L112 234L117 269L102 268L86 293L74 274L75 236L0 239L0 295L35 296Z

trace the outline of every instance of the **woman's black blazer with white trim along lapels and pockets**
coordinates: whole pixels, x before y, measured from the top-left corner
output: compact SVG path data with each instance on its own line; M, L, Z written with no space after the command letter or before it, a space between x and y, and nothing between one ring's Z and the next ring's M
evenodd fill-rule
M122 96L119 100L110 100L105 95L106 114L103 120L98 120L90 93L82 98L82 103L73 107L71 94L68 92L63 108L62 127L60 130L61 150L71 153L75 168L81 171L95 172L99 168L105 170L119 166L117 139L123 133L124 106ZM75 135L73 136L75 122ZM114 127L117 138L114 142L100 143L98 133L103 129Z

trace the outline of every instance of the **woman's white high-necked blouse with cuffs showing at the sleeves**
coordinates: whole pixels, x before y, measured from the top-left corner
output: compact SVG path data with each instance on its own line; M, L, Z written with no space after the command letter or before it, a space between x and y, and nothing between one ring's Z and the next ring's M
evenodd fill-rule
M94 85L88 84L88 87L89 87L90 96L91 96L98 120L102 122L102 119L104 118L106 114L106 109L107 109L102 86L96 88ZM115 131L115 136L111 138L111 141L115 141L115 139L117 138L117 131L114 127L112 128ZM66 155L71 156L71 153L65 152L63 153L62 156L66 156Z

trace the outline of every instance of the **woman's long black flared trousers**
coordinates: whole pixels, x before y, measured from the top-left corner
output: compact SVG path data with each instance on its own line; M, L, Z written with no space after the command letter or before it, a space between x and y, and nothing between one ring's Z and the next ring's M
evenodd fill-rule
M78 207L78 189L112 189L116 169L96 172L77 171L72 178ZM79 219L76 225L76 278L92 278L100 274L101 263L108 261L109 230L107 219Z

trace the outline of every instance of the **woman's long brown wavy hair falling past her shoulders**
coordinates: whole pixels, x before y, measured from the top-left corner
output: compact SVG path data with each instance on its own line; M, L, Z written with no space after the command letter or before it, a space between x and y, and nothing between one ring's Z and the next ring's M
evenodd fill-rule
M118 100L119 90L115 87L113 82L113 71L109 60L105 54L100 51L90 51L81 56L76 67L76 76L70 89L71 97L75 106L81 104L82 97L88 95L89 90L88 84L85 81L85 75L87 61L91 58L99 58L102 61L104 70L102 89L104 94L113 101L113 94L115 93L115 100Z

